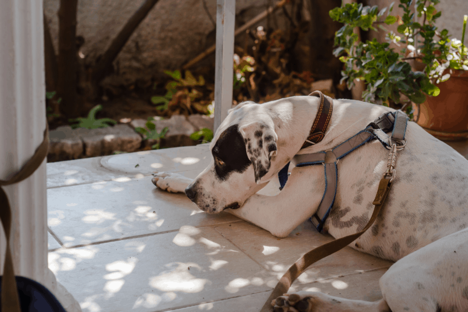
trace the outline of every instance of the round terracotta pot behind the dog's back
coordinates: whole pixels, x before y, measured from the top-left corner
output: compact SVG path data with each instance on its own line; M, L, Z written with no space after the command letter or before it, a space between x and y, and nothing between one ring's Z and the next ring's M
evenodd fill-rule
M452 69L450 79L437 87L440 94L427 96L420 105L418 125L439 139L467 139L468 71ZM413 108L416 115L418 111L415 104Z

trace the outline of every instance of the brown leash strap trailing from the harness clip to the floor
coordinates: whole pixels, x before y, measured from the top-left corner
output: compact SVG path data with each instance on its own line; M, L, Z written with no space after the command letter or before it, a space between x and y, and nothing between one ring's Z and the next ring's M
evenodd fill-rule
M332 242L326 243L322 246L314 248L313 250L307 252L302 257L300 257L280 279L275 289L271 292L271 295L268 297L265 304L261 308L260 312L270 312L272 310L271 302L279 296L282 296L283 294L287 293L289 288L291 287L291 284L299 277L299 275L302 274L302 272L308 266L325 258L326 256L337 252L338 250L343 249L347 245L353 243L361 235L363 235L363 233L374 223L375 219L377 218L377 215L379 214L385 202L385 199L391 186L391 179L385 177L382 178L380 180L377 194L373 202L373 205L375 205L374 212L372 213L372 216L367 225L361 231L353 235L348 235L334 240Z

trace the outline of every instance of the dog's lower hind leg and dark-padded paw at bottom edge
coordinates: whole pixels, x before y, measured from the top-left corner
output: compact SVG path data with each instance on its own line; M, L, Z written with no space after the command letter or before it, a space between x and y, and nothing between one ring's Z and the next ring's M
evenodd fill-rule
M391 312L385 300L349 300L320 292L299 291L271 302L275 312Z

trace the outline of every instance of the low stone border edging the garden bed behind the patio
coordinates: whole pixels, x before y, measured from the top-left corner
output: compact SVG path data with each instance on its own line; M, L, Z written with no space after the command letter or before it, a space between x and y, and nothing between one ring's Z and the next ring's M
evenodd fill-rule
M153 121L158 132L165 127L169 130L161 147L179 147L197 145L200 142L190 139L193 132L202 128L213 130L213 118L195 114L185 117L173 115L170 119ZM150 149L155 142L143 140L135 131L136 127L145 128L146 120L135 119L129 124L118 124L113 127L87 129L71 129L70 126L58 127L49 133L50 145L48 162L58 162L110 155L115 151L133 152Z

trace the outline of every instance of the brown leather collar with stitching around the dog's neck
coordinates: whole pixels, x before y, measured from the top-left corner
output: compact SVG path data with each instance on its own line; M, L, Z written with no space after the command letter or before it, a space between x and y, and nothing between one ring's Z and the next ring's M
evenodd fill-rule
M325 131L327 131L328 123L331 119L331 114L333 112L333 99L329 96L324 95L320 91L314 91L309 95L319 97L320 106L314 124L310 128L310 133L307 137L307 141L319 143L323 140L325 136ZM312 145L307 141L305 141L304 144L302 144L301 149Z

